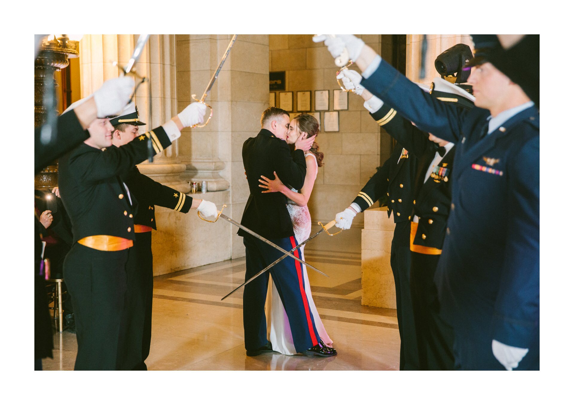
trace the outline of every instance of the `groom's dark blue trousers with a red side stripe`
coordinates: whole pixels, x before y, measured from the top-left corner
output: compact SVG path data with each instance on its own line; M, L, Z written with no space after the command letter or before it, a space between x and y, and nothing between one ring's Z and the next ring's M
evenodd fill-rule
M290 251L298 244L294 236L269 240L286 251ZM251 235L243 237L243 244L245 245L247 267L246 281L283 255L276 248ZM293 255L300 258L301 251L297 249ZM313 320L313 314L309 310L309 302L305 294L305 282L301 266L302 264L293 258L283 259L245 286L245 290L243 290L243 329L245 330L246 350L256 350L267 344L265 299L269 274L273 277L273 282L285 307L296 351L303 353L319 343L319 333L315 328L315 320Z

